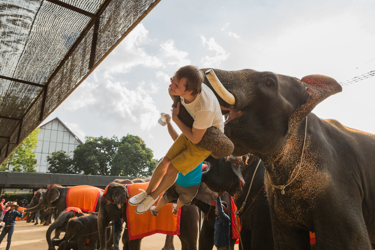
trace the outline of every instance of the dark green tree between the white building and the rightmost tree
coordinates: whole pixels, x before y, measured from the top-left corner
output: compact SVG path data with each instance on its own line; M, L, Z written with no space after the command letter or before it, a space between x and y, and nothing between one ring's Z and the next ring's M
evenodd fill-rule
M86 136L84 144L74 150L74 170L85 175L110 175L118 138Z

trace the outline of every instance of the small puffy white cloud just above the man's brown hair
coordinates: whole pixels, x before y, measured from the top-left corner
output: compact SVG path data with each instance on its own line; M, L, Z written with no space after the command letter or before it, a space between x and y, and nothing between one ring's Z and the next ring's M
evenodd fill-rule
M178 50L174 45L174 40L168 39L166 42L160 43L160 54L163 61L168 61L168 65L189 65L190 59L187 58L189 53Z

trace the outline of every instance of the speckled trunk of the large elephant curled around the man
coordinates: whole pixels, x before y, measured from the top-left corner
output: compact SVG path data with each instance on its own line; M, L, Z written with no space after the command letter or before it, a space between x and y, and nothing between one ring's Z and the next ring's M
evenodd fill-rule
M178 102L181 102L181 97L175 96L173 105L177 107ZM193 117L187 112L183 105L180 105L178 118L180 118L186 126L190 128L193 127ZM211 126L206 130L201 141L198 142L197 145L205 150L213 152L211 155L215 158L230 156L234 150L233 142L214 126Z

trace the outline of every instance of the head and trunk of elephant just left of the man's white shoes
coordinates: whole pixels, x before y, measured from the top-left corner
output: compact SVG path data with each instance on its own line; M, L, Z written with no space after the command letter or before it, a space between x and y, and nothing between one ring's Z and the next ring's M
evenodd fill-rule
M119 180L121 181L121 180ZM126 217L125 202L129 198L126 185L111 182L105 188L98 213L98 231L101 249L105 248L106 228L111 221Z

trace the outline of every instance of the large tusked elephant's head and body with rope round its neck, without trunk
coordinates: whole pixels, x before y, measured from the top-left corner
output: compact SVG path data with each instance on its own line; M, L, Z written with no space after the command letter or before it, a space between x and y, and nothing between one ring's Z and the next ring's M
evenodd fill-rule
M309 231L316 249L375 248L375 136L311 113L341 86L323 75L214 72L236 99L219 99L233 154L266 166L275 248L309 249Z

